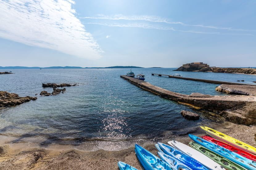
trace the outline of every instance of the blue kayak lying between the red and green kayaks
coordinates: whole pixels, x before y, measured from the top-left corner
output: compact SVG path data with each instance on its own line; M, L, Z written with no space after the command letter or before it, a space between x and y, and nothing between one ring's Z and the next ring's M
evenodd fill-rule
M192 134L188 135L194 142L204 146L207 149L233 161L236 164L248 169L248 170L256 170L256 162L249 160L241 155L238 155L235 152L232 152L226 148L223 148L217 144L204 140L200 137L194 136Z

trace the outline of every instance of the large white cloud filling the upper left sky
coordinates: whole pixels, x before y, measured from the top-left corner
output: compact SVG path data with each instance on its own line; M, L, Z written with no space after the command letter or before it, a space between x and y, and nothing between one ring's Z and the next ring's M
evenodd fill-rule
M0 1L0 37L78 57L101 57L101 48L76 18L72 0Z

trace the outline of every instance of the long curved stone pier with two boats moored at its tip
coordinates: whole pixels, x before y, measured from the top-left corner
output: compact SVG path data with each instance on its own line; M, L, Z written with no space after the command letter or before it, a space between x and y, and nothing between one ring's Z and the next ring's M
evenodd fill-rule
M244 95L234 95L234 96L212 96L212 97L190 97L189 95L175 93L167 89L163 89L152 85L146 81L138 80L133 77L128 77L121 75L121 78L129 81L131 84L134 84L144 90L147 90L151 93L157 94L163 98L179 102L181 104L189 104L207 109L214 112L220 112L223 110L231 109L241 109L248 103L256 102L256 96L244 96ZM191 106L190 106L191 107Z

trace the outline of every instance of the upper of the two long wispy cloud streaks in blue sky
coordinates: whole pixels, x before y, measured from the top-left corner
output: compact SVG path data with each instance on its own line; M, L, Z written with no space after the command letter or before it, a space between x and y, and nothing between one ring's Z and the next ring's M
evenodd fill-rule
M218 30L229 30L231 27L217 27L217 26L204 26L204 25L196 25L196 24L185 24L183 22L172 22L170 19L167 18L161 18L158 16L152 16L152 15L131 15L131 16L124 16L121 14L114 15L114 16L108 16L108 15L98 15L98 17L82 17L84 19L107 19L107 20L129 20L129 21L135 21L135 20L143 20L143 21L149 21L149 22L164 22L167 24L180 24L183 26L196 26L196 27L204 27L204 28L212 28L212 29L218 29Z

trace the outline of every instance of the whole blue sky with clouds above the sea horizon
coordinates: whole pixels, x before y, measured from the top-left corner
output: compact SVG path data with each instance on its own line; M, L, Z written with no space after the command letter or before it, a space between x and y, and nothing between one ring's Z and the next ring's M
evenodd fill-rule
M255 0L0 0L0 66L256 66Z

